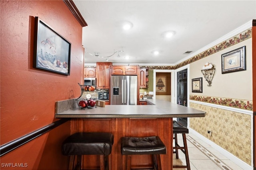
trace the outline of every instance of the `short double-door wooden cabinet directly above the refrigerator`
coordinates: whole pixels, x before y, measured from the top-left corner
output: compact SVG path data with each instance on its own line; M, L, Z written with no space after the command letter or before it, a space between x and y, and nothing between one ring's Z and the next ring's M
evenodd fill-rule
M112 75L137 75L139 66L111 66Z

